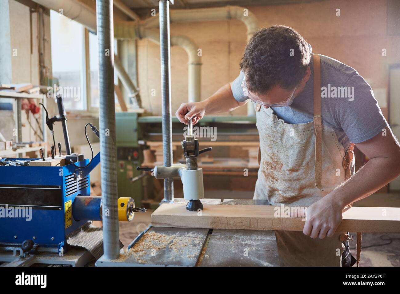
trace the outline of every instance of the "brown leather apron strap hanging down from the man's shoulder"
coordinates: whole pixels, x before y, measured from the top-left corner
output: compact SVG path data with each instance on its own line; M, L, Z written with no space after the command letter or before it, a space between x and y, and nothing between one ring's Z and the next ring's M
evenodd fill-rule
M321 61L314 54L314 133L315 133L315 186L322 188L322 117L321 117Z

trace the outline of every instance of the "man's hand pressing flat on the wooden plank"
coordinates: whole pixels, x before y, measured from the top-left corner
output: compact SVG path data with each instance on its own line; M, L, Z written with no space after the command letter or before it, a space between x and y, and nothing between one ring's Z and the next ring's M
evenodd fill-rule
M332 237L342 221L343 207L330 194L307 208L303 233L311 238Z

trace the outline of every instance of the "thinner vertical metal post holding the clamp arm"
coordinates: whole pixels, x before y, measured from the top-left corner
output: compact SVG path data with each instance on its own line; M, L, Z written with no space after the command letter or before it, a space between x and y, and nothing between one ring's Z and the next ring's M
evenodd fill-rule
M173 2L172 2L173 4ZM160 15L161 99L162 99L162 147L164 166L172 165L171 119L171 65L170 65L170 0L158 2ZM164 179L164 202L174 201L174 182Z

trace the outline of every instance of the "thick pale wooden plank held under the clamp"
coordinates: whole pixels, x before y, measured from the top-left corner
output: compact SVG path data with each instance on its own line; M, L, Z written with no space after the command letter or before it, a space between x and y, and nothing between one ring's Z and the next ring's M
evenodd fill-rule
M287 206L290 207L290 206ZM162 204L151 216L152 226L238 230L302 231L304 219L276 214L281 206L204 205L201 214L184 204ZM351 207L343 212L338 232L400 232L400 208Z

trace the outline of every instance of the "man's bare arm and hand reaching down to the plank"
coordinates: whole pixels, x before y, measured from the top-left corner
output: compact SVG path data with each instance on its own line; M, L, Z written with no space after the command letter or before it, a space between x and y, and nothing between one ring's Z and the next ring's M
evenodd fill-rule
M400 146L390 127L356 144L369 158L350 179L307 209L303 233L311 238L332 236L345 206L370 196L400 174Z

